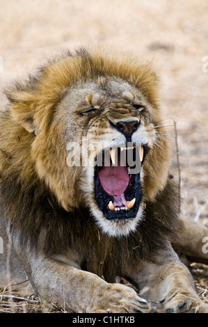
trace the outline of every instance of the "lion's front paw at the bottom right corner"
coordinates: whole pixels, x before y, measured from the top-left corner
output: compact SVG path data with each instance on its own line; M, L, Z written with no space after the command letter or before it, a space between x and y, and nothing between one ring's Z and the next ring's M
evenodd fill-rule
M187 289L172 289L164 296L161 303L163 303L163 308L166 312L208 312L208 305L203 303L196 294Z

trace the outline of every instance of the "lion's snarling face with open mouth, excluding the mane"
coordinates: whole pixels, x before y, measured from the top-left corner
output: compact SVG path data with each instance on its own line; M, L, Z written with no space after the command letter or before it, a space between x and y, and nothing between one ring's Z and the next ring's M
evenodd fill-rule
M70 107L73 117L68 141L76 126L67 143L67 163L70 169L83 166L86 180L79 187L86 205L104 232L128 234L143 213L143 166L156 140L152 107L136 88L113 78L77 83L63 107Z

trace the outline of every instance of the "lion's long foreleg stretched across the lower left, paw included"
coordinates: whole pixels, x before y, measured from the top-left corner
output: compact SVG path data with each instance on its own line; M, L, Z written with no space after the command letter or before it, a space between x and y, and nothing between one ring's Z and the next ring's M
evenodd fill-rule
M53 305L68 312L149 312L150 303L119 283L109 284L99 276L82 271L74 251L45 255L42 250L22 246L13 234L13 247L31 284L45 308Z

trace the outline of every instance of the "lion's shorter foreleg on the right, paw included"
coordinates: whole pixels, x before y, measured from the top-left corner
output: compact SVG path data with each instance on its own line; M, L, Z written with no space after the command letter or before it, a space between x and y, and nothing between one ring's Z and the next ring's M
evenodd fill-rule
M167 312L208 312L195 292L189 269L177 258L159 265L144 264L138 283L145 287L145 297L163 305Z

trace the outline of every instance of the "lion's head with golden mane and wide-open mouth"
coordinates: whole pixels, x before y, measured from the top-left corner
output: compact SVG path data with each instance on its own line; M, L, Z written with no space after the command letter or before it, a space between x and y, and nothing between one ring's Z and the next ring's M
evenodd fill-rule
M99 50L62 56L18 84L8 97L17 134L30 135L24 183L35 170L64 209L90 210L111 236L134 230L168 178L157 84L150 63Z

